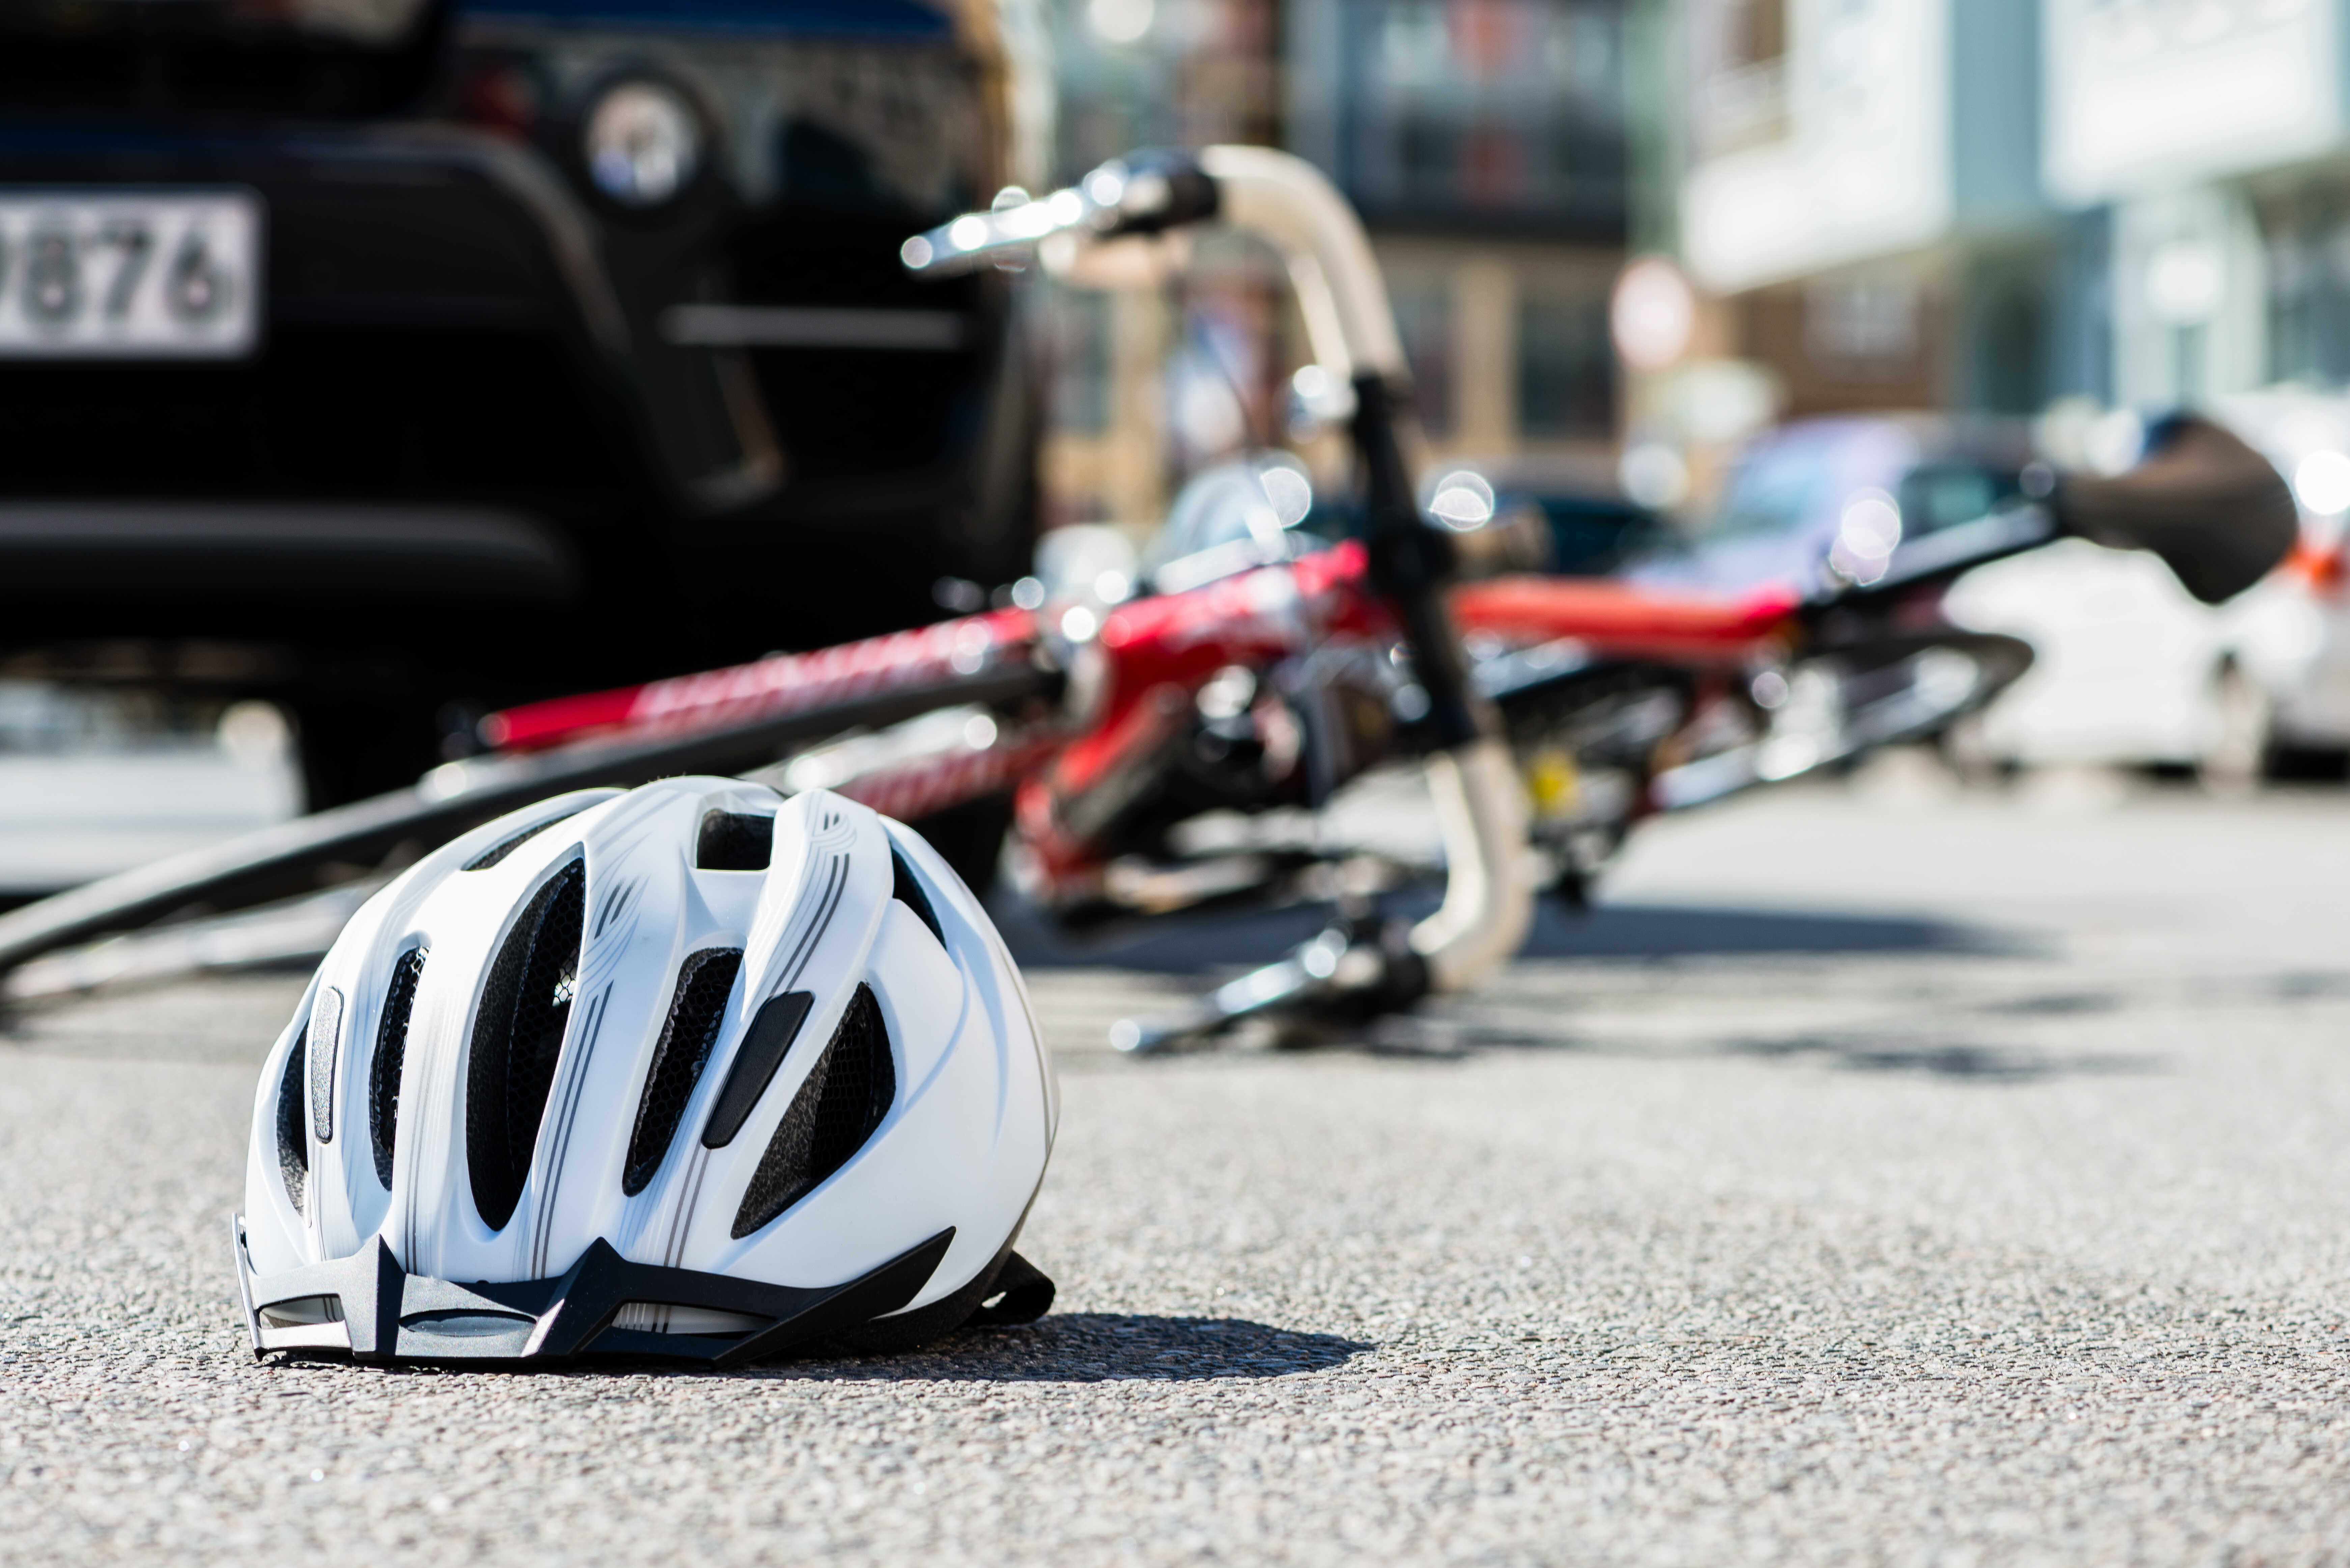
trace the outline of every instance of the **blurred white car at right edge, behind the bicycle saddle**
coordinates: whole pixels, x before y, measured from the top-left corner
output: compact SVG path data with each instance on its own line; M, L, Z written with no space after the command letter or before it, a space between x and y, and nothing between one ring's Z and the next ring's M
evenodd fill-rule
M2216 783L2350 757L2350 400L2284 390L2214 409L2294 480L2301 548L2228 604L2162 562L2061 541L1969 571L1946 614L2033 644L1976 741L2019 766L2193 766Z

